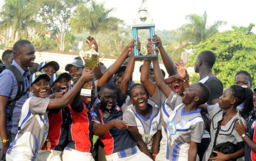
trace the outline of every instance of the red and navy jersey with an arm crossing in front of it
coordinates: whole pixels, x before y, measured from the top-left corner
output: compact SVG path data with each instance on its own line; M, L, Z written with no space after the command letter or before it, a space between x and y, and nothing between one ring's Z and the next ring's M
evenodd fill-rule
M98 103L91 108L90 115L92 120L98 124L106 124L111 120L122 120L122 110L118 105L115 105L109 111L105 111L101 108L101 103ZM126 129L119 130L113 127L108 132L99 136L99 138L104 144L106 155L121 152L137 145Z

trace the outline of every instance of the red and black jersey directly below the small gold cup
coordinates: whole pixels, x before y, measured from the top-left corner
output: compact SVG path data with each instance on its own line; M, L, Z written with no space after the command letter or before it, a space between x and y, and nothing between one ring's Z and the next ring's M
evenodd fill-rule
M67 148L72 148L80 152L92 153L92 118L85 107L83 101L78 108L69 104L69 131Z

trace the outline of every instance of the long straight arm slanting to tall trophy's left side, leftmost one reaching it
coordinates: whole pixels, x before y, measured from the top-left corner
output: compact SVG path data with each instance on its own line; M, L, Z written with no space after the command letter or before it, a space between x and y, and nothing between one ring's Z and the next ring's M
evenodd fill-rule
M134 46L134 40L132 40L122 51L121 55L118 57L117 60L112 64L111 68L103 75L98 81L98 87L101 87L103 84L107 83L108 80L118 71L118 69L121 67L122 63L127 58L127 55L129 51L131 51L131 47Z

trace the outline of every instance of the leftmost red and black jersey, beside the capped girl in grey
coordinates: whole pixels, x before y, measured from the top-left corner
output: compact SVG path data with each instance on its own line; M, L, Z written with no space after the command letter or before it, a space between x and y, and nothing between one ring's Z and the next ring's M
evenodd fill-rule
M49 130L48 138L51 150L63 151L67 145L69 108L52 109L48 112ZM43 145L42 150L45 150Z

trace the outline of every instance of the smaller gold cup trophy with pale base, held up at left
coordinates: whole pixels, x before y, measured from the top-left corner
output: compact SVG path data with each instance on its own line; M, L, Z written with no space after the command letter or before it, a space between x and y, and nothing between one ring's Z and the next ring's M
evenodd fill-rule
M99 62L104 58L104 54L99 54L97 51L94 50L94 45L92 45L92 49L90 49L89 51L81 50L79 52L79 55L86 66L85 68L90 70L93 70L95 67L97 67ZM94 78L93 80L96 79ZM92 86L90 88L82 88L80 95L91 97Z

